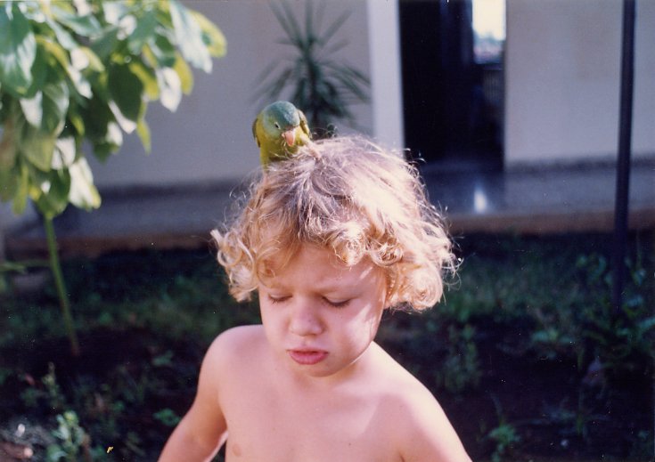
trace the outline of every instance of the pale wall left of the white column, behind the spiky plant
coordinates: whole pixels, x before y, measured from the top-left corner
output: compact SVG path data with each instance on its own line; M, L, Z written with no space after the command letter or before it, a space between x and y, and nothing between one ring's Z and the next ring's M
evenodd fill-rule
M258 0L187 0L217 24L227 39L227 53L214 61L210 75L194 71L195 87L185 96L176 113L151 103L152 152L143 155L135 135L105 165L92 161L99 188L135 185L171 185L239 180L258 167L258 150L252 139L252 121L262 102L252 102L257 77L275 60L291 56L267 2ZM304 22L305 2L293 2ZM327 3L323 28L344 11L352 14L340 29L339 39L348 40L340 52L346 61L369 73L368 32L365 0L332 0ZM335 42L336 43L336 42ZM336 57L336 56L335 56ZM372 109L354 107L357 122L371 131Z

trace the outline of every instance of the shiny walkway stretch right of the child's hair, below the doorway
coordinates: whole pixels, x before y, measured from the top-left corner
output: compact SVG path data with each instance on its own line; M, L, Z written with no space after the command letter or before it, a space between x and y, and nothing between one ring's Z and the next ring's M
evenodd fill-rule
M430 199L446 210L454 233L544 234L612 231L614 166L561 166L540 170L423 175ZM655 229L655 161L630 172L631 229Z

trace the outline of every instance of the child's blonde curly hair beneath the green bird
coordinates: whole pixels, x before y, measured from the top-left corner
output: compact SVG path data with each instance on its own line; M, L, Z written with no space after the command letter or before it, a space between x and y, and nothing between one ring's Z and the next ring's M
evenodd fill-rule
M401 154L341 136L268 166L240 214L211 232L234 298L249 300L273 275L274 258L288 263L310 244L347 265L369 258L381 267L392 307L436 304L445 273L454 271L452 244L416 168Z

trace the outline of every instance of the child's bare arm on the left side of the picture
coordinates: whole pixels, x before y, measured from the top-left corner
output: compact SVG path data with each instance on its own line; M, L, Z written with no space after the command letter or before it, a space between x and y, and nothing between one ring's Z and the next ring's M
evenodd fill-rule
M227 426L218 403L221 353L220 341L215 341L202 361L191 409L168 438L160 462L211 460L225 442Z

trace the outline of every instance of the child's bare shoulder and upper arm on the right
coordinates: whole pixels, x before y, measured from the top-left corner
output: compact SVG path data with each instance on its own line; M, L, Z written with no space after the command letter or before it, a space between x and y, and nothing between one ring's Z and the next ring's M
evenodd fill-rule
M385 357L386 356L386 357ZM389 432L404 462L469 462L471 458L444 410L425 385L386 353L384 394Z

